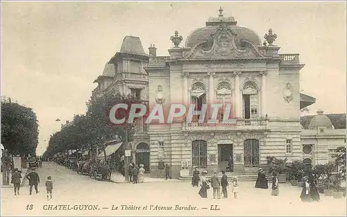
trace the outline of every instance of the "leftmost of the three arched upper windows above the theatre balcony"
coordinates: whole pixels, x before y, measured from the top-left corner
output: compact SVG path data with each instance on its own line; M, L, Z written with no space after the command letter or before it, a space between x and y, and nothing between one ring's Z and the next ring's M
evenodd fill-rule
M206 103L205 85L203 85L203 83L200 82L194 83L190 91L190 97L191 104L195 105L195 110L201 111L203 104ZM194 120L197 120L198 118L198 115L194 116Z

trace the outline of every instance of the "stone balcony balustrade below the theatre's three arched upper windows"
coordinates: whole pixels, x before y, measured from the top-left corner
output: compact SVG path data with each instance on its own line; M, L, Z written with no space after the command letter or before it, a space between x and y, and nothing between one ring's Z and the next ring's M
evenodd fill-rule
M266 119L237 119L233 123L223 123L223 121L218 121L217 123L192 121L192 123L187 123L187 121L183 121L183 130L216 130L219 128L266 128Z

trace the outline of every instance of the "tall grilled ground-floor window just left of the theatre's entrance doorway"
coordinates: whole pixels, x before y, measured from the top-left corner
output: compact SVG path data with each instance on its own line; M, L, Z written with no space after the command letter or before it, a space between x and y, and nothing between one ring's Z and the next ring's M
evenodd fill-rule
M203 140L192 141L192 166L206 168L208 164L208 143Z

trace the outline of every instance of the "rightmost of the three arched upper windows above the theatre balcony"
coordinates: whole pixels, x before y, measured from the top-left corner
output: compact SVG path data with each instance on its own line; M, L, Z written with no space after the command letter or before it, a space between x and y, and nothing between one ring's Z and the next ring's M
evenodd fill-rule
M244 119L258 118L258 89L253 82L247 82L242 89L242 113Z

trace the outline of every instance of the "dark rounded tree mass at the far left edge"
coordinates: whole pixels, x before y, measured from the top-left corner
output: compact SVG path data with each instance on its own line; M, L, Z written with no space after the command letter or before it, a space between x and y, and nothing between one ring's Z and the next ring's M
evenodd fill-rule
M1 99L1 143L12 155L35 155L38 144L38 121L30 107Z

